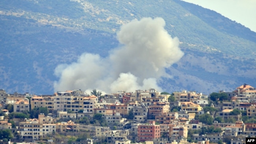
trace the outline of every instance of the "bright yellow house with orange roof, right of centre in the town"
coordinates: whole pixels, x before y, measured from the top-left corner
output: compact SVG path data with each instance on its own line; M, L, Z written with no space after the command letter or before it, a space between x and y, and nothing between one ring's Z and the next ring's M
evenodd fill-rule
M181 103L181 110L186 110L187 113L198 113L198 111L202 111L202 107L198 104L193 102L182 102Z

